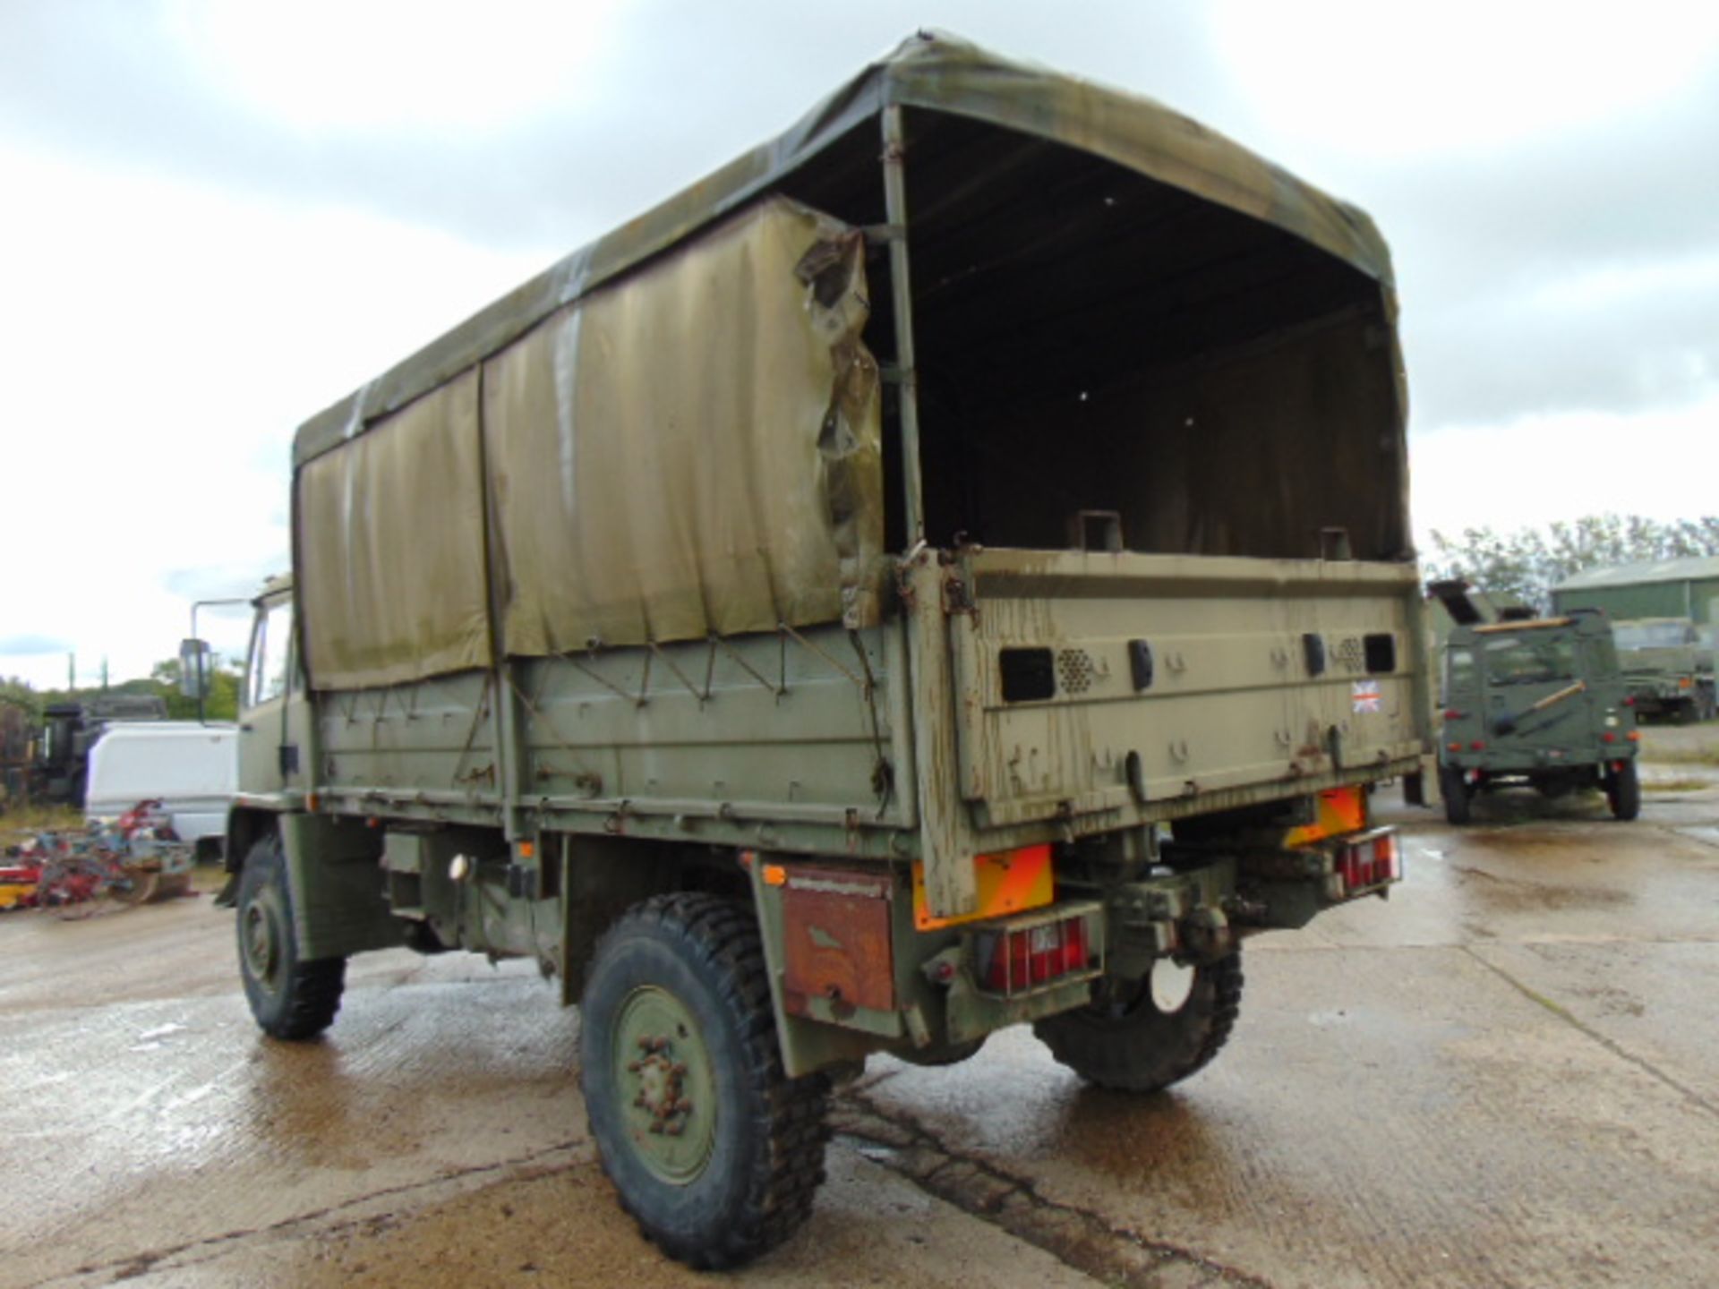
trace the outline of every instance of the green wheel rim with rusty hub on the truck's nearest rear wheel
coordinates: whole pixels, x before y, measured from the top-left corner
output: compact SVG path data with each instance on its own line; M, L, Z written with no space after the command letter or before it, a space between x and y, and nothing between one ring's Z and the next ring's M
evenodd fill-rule
M655 985L627 995L615 1017L615 1091L627 1141L652 1176L696 1181L717 1143L717 1097L698 1023Z

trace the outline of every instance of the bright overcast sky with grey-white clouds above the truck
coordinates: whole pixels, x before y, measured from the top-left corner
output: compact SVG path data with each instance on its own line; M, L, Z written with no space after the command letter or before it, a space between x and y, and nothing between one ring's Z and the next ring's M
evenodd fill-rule
M0 675L170 657L299 421L918 26L1375 217L1422 533L1719 510L1719 5L0 0Z

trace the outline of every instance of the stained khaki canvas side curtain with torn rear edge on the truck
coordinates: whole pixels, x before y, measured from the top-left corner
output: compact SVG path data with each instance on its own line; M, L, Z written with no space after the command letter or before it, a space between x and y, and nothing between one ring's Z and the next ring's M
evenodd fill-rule
M309 461L313 684L872 624L865 301L863 237L772 198Z

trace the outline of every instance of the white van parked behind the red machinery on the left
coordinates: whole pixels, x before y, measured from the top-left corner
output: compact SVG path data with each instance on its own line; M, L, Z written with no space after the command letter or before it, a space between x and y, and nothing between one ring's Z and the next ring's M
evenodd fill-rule
M84 816L112 820L160 797L199 858L220 854L227 806L239 785L239 727L232 722L148 720L108 725L89 749Z

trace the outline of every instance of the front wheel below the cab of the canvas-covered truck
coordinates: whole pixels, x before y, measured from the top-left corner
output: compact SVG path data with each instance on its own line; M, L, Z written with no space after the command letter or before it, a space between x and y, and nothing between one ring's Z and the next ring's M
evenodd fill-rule
M301 962L292 933L292 883L280 837L260 839L244 858L239 894L239 980L258 1028L272 1038L315 1038L340 1011L346 959Z

